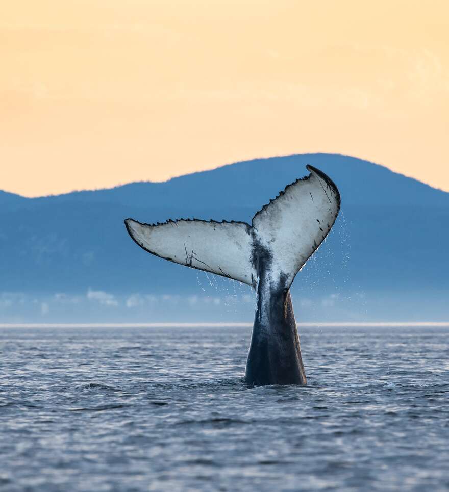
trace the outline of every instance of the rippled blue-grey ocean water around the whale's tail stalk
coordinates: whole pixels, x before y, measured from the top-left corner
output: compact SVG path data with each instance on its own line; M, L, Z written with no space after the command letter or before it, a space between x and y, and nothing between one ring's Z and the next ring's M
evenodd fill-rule
M449 329L300 332L248 387L247 328L1 329L0 490L449 489Z

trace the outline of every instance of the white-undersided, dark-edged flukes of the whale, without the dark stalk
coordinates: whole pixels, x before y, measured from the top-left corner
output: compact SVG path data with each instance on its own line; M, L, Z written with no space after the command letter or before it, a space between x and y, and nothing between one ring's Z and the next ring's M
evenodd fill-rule
M288 289L331 230L340 209L332 180L312 166L256 213L252 224L180 219L143 224L126 219L132 239L165 260L255 285L261 263Z

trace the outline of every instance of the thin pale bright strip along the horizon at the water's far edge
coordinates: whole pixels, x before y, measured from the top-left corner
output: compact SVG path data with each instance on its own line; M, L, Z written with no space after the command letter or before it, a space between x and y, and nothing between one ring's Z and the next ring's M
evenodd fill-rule
M0 323L1 328L249 328L249 322L222 322L222 323ZM449 328L449 321L367 321L367 322L303 322L296 323L297 327L305 328L403 328L403 327L441 327Z

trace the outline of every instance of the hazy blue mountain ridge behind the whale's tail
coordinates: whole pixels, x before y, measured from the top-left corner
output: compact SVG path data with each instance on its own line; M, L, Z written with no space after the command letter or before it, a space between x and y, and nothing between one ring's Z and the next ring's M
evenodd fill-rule
M326 243L296 277L294 296L344 298L347 316L352 316L347 306L357 304L358 318L364 305L371 310L370 319L444 317L449 193L380 165L335 154L256 159L165 183L131 183L33 199L0 192L0 292L39 299L88 289L123 298L131 293L188 296L198 289L210 295L205 277L199 277L198 287L198 275L205 274L137 248L123 219L250 222L264 203L307 174L306 164L334 180L342 207ZM321 306L316 316L324 319L335 302ZM373 312L377 309L379 313ZM0 322L2 317L12 319L2 315L0 307Z

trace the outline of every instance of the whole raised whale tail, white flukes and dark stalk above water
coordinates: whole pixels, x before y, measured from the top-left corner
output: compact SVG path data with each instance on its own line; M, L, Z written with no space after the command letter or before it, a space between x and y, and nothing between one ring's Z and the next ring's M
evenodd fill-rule
M340 209L332 180L307 166L256 213L252 224L181 219L162 224L125 220L132 239L149 253L252 285L257 311L246 379L251 384L304 384L289 288L331 230Z

